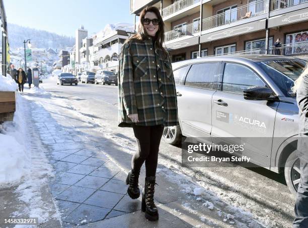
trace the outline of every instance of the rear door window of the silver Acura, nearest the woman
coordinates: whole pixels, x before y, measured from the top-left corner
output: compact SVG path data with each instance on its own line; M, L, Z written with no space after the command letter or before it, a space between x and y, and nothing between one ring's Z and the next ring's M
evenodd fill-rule
M212 89L218 63L198 63L191 66L185 85Z

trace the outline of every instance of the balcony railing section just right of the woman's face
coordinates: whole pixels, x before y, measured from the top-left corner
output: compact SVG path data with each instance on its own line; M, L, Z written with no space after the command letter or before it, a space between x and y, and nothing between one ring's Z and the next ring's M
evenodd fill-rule
M193 36L193 34L197 32L200 32L200 22L194 22L182 28L165 33L165 40L169 41L184 36Z

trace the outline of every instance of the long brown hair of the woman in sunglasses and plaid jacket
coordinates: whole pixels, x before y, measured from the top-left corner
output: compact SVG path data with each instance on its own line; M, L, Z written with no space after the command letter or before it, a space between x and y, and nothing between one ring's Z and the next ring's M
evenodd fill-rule
M161 13L157 7L146 7L141 11L140 16L139 16L138 31L136 34L128 38L126 42L129 42L130 40L142 40L143 41L147 39L148 34L146 33L143 27L143 24L142 24L142 19L144 19L144 16L147 12L154 13L157 16L157 19L159 20L159 30L157 31L155 35L156 37L155 44L159 49L161 49L168 56L168 52L163 47L163 43L165 42L165 29L164 29L165 24L161 16Z

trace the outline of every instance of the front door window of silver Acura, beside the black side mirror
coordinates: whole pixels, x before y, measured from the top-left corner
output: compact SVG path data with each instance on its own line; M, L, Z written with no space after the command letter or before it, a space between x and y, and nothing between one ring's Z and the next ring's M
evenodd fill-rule
M265 83L246 66L235 63L225 64L222 78L223 91L243 93L243 90L250 86L265 86Z

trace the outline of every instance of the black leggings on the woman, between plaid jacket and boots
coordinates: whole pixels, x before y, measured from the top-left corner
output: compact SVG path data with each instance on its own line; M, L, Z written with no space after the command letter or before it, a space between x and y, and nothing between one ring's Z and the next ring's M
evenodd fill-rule
M139 170L145 161L145 175L155 176L164 126L133 125L132 127L138 147L131 160L132 169Z

